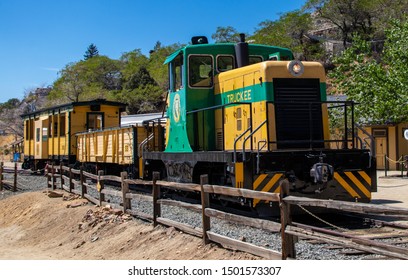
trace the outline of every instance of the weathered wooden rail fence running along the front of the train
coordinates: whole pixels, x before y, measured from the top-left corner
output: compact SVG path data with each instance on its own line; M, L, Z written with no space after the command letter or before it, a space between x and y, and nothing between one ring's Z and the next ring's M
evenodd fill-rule
M317 228L301 223L292 222L291 207L314 206L328 209L337 209L338 211L347 211L363 214L383 214L388 216L397 215L408 219L408 209L398 207L388 207L381 205L372 205L355 202L319 200L310 198L301 198L290 196L289 182L281 181L281 193L258 192L246 189L229 188L224 186L215 186L208 184L207 175L201 176L200 184L173 183L159 180L159 173L153 173L152 181L128 179L127 173L122 172L120 177L104 175L102 171L98 175L85 172L83 169L75 170L66 166L48 167L48 186L56 189L56 178L60 178L60 188L71 193L76 193L88 199L94 204L104 206L111 205L114 208L122 209L125 213L135 217L147 219L153 222L154 226L159 224L175 227L186 233L203 238L205 244L215 242L224 247L241 250L267 259L295 259L295 241L297 237L317 240L324 243L336 244L344 248L353 248L373 254L380 254L391 258L408 259L408 248L403 248L391 244L385 244L370 240L367 238L357 237L352 234L346 234L334 230ZM87 183L88 180L94 180L95 184ZM121 186L121 191L106 188L106 182L117 182ZM129 185L144 185L151 188L150 194L133 193L129 190ZM189 191L201 193L201 205L191 204L182 201L161 198L163 188L179 191ZM93 189L98 197L91 196L89 191ZM209 197L211 194L227 195L249 199L260 199L266 201L279 202L281 223L273 221L248 218L235 215L211 208ZM105 195L115 196L121 200L121 203L108 203L105 201ZM132 209L132 200L148 201L153 204L152 213L145 213ZM193 227L188 224L173 221L162 217L162 205L171 205L186 208L197 213L201 213L201 228ZM211 218L222 219L227 222L238 223L246 226L269 231L271 233L281 234L282 250L281 252L270 250L254 244L222 236L211 231ZM386 222L384 222L386 223ZM397 224L403 229L408 230L408 226Z

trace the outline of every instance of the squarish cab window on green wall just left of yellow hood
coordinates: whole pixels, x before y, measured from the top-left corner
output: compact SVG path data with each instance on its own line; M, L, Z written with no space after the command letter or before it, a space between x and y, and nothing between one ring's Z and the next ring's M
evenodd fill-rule
M213 59L210 55L191 55L188 59L190 87L212 87Z

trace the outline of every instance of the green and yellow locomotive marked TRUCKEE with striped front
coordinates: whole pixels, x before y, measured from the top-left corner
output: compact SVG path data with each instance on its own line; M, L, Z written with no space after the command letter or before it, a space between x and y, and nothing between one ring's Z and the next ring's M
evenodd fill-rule
M352 102L326 100L320 63L293 60L285 48L193 44L172 55L164 151L143 153L143 174L167 180L369 201L376 191L375 158L357 147ZM342 108L345 136L332 140L328 110ZM347 120L349 118L349 120ZM350 124L351 120L351 124ZM259 201L248 201L256 206Z

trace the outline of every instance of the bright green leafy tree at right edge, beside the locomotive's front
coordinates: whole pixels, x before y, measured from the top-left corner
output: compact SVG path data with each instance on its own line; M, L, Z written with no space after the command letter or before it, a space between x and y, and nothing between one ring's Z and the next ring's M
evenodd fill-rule
M360 103L356 115L361 123L408 121L408 21L393 21L385 34L384 59L378 59L369 42L354 37L330 73L334 92Z

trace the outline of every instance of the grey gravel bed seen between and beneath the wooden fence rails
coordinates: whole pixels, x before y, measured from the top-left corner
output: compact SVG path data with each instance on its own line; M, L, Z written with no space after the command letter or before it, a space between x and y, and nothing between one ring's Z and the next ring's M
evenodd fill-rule
M12 180L12 174L5 174L5 180ZM91 181L88 181L91 183ZM59 180L57 179L57 186ZM107 187L107 186L105 186ZM111 187L120 190L119 187ZM0 192L0 199L4 199L11 195L16 195L21 192L38 191L47 189L47 178L45 176L18 176L18 190L16 193L5 189ZM89 189L88 194L98 198L98 193L95 190ZM121 198L106 195L106 201L110 203L120 204ZM152 203L145 201L132 200L132 209L151 214L153 212ZM162 216L177 222L185 223L193 227L201 227L201 214L194 211L175 207L162 206ZM245 240L252 244L262 246L268 249L281 251L281 237L279 233L271 233L264 230L254 229L248 226L241 226L234 223L228 223L216 218L211 219L211 231L228 236L230 238ZM344 254L345 249L327 249L328 244L310 244L303 240L296 243L296 258L301 260L352 260L362 259L365 255L348 255Z

